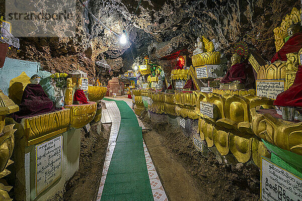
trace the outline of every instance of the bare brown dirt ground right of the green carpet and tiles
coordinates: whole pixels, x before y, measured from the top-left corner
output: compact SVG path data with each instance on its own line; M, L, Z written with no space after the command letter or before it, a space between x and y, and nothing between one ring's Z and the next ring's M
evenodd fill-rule
M189 137L168 124L153 124L143 133L169 200L258 200L260 171L255 165L219 164L193 147Z

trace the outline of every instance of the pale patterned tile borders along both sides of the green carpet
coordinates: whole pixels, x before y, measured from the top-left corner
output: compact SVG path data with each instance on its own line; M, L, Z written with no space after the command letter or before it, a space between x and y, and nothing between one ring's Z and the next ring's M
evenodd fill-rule
M121 98L119 98L118 100L120 100L120 99ZM132 109L132 100L127 99L127 98L125 98L125 99L122 98L122 99ZM117 98L115 100L117 100ZM101 183L100 183L97 200L101 200L101 197L102 197L108 168L110 166L112 155L115 150L115 145L117 143L116 140L117 140L118 131L119 131L120 122L121 122L121 115L120 115L120 112L118 110L116 103L112 102L112 101L106 101L106 100L103 100L103 102L106 104L108 114L112 121L112 128L111 128L111 132L110 132L109 144L108 144L107 153L106 153L106 160L105 160L104 167L103 167L103 173L102 173L102 178L101 178ZM140 121L138 121L138 122L139 122L139 125L143 126L143 124ZM154 167L152 159L150 158L148 150L147 150L144 142L142 142L142 143L143 143L143 149L144 149L144 156L145 156L145 160L146 160L146 163L144 163L144 164L146 164L146 166L147 166L147 173L148 173L148 177L149 177L150 188L152 189L152 194L153 194L154 200L168 200L165 190L164 190L162 183L159 179L159 176L157 174L156 168ZM120 155L119 155L119 157L120 157ZM116 160L120 160L120 159L113 159L113 160L116 161ZM125 183L124 185L132 185L132 184ZM111 197L111 198L113 198L113 197ZM105 197L103 197L102 200L103 199L105 199ZM117 197L115 197L115 199L112 199L112 200L125 200L125 198L118 199ZM133 200L140 200L140 199L137 198L137 199L133 199Z

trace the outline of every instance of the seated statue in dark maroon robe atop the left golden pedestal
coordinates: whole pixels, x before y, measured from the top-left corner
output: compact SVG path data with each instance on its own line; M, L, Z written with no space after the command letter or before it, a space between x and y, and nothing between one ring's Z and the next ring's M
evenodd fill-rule
M59 111L62 108L55 108L52 101L44 92L42 86L39 84L41 77L37 74L30 78L30 84L24 88L20 110L13 114L13 118L17 123L26 117L32 117L45 113Z

